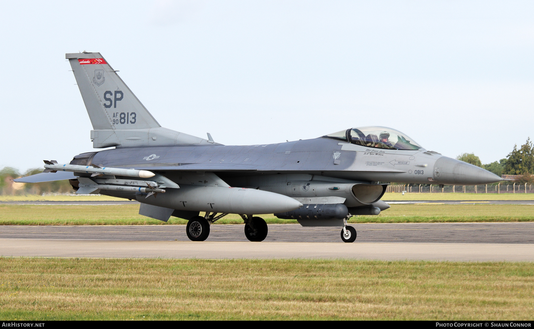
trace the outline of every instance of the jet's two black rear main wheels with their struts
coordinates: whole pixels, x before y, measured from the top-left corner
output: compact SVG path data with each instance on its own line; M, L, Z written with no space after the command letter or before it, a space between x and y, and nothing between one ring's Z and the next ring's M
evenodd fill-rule
M191 241L204 241L209 236L209 227L228 214L206 213L204 217L195 216L187 222L185 231ZM261 217L241 215L245 222L245 236L250 241L263 241L267 237L267 223Z

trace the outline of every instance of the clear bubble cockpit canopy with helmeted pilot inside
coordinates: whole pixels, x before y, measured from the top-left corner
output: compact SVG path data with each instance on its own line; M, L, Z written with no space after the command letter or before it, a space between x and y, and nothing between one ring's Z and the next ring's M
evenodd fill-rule
M344 140L356 145L375 148L390 148L392 150L419 150L421 145L402 132L387 127L359 127L334 132L323 136Z

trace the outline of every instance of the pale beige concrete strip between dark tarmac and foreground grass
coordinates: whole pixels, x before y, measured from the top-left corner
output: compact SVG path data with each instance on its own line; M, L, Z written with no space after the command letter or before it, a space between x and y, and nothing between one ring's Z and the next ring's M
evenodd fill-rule
M2 256L163 259L359 259L534 261L525 244L336 244L0 239Z

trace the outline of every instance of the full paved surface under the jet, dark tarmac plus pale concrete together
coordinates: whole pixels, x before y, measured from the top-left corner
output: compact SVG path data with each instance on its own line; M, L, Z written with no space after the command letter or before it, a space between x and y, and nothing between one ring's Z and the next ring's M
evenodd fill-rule
M0 226L0 255L199 259L362 259L534 261L534 223L355 224L357 242L338 228L269 225L250 242L243 225L212 225L207 241L185 225Z

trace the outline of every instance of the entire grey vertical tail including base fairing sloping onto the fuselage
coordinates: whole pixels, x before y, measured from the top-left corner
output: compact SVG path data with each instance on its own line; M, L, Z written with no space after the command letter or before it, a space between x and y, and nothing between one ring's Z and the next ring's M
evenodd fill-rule
M65 57L93 125L93 147L214 145L161 127L100 53L71 53Z

